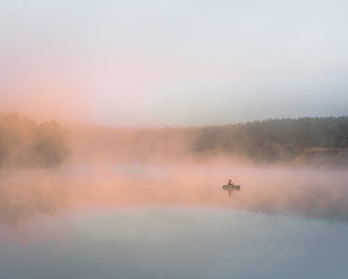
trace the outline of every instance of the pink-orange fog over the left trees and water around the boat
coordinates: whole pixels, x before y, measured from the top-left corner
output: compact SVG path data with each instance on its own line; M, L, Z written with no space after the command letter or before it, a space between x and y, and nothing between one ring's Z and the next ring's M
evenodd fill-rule
M91 208L152 206L348 220L344 164L261 163L219 145L201 149L214 140L216 130L209 128L66 130L55 122L38 124L15 114L1 114L1 121L3 224ZM221 134L227 140L229 131ZM223 190L228 179L241 190Z

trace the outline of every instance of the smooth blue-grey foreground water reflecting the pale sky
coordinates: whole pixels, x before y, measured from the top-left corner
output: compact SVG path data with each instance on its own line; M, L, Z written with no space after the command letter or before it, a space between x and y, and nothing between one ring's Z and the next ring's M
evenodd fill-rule
M346 278L347 232L226 209L85 211L25 243L0 230L0 278Z

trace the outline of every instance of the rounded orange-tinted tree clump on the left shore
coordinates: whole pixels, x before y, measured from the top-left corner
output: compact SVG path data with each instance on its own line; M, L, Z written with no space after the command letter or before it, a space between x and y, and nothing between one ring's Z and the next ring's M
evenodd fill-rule
M55 121L36 123L0 114L0 167L54 167L69 155L68 130Z

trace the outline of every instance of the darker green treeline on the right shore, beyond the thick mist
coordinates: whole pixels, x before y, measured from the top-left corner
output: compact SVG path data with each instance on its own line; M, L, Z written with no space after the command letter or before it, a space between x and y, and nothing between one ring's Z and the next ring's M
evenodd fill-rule
M268 119L198 128L192 150L224 151L255 160L294 160L306 149L348 147L348 116Z

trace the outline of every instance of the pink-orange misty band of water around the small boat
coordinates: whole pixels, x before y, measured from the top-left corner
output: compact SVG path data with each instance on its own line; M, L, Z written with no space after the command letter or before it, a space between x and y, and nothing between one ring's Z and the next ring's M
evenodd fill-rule
M228 177L231 169L138 166L135 176L129 169L1 172L0 224L15 225L58 211L148 206L220 207L348 220L346 172L233 168L242 190L221 190L221 177Z

